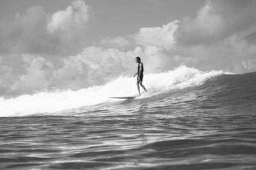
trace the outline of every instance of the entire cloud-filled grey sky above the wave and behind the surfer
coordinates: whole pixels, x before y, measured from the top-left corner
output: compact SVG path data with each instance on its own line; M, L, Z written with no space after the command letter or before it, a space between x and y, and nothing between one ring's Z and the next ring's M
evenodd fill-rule
M256 71L255 0L0 0L0 96L185 65Z

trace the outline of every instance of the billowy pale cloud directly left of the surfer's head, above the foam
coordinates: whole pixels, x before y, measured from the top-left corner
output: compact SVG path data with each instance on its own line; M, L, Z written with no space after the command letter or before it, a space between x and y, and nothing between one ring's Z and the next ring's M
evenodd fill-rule
M54 78L72 89L99 85L106 76L117 76L127 70L131 71L133 61L134 55L131 53L124 53L116 48L90 46L76 56L63 59L64 65L54 71Z

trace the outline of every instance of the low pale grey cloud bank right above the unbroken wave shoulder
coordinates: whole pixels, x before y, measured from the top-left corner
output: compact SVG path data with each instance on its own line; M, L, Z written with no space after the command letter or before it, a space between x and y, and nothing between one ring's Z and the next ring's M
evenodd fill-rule
M185 56L190 56L190 66L203 69L221 69L232 73L245 73L253 68L244 67L244 60L255 58L256 46L249 45L246 40L234 35L212 45L179 46ZM246 63L247 64L247 63ZM247 65L246 65L247 66ZM256 67L254 68L256 71Z

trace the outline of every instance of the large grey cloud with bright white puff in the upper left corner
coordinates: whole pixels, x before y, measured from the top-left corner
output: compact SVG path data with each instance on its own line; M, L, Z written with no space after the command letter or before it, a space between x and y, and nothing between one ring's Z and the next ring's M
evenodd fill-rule
M24 13L15 13L10 20L0 20L0 55L42 53L56 56L81 50L89 11L84 1L74 1L66 10L53 14L46 13L41 6L31 6Z

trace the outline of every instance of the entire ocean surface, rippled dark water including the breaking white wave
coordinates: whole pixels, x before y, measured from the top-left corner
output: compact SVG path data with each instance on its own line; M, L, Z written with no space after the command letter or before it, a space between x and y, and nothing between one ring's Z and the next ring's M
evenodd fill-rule
M181 66L0 98L0 169L256 169L256 73Z

